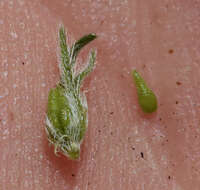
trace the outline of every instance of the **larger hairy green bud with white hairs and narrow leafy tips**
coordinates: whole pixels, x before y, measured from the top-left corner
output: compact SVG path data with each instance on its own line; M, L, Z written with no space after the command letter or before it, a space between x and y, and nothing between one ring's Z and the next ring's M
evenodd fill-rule
M55 153L62 152L72 160L80 157L80 145L88 125L87 100L80 87L94 68L96 52L90 52L87 66L78 74L75 74L75 63L79 51L95 38L95 34L85 35L69 48L64 27L59 30L60 82L49 92L46 132Z

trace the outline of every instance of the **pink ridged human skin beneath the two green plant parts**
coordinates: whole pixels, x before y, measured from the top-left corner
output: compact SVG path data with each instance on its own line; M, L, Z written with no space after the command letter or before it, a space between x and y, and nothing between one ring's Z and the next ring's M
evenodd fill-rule
M77 162L55 156L44 131L60 23L70 40L98 35L79 59L97 49ZM199 0L1 0L0 189L199 190L199 66ZM156 113L140 110L132 69Z

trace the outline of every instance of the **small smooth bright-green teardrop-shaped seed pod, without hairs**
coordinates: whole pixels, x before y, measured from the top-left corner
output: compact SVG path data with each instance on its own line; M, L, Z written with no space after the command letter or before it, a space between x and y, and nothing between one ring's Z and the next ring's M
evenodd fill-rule
M148 88L144 79L136 71L132 71L133 79L137 88L138 101L145 113L152 113L157 110L157 98L154 92Z

